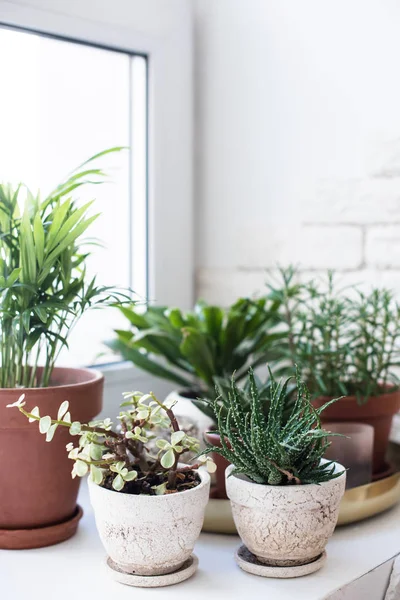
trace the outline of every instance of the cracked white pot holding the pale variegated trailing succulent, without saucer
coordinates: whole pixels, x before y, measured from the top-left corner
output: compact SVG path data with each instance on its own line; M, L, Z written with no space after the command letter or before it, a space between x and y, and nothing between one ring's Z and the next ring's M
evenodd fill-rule
M124 494L89 480L96 526L109 557L126 573L164 575L193 552L203 526L210 476L196 487L163 496Z

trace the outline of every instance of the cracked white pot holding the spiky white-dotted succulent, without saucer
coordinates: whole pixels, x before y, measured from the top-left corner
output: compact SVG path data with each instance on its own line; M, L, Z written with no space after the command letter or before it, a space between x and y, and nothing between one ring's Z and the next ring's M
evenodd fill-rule
M260 485L229 476L226 490L244 544L260 562L299 566L315 560L335 529L346 473L319 485ZM344 468L336 463L336 470Z

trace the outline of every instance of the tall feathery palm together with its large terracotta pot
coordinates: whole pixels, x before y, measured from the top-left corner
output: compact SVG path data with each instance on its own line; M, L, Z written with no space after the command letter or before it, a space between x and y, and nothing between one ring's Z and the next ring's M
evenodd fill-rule
M88 216L91 203L78 207L73 194L93 178L100 181L102 171L85 163L44 199L23 186L0 185L0 548L61 541L80 517L65 433L46 452L40 434L6 405L25 389L45 413L66 397L79 419L101 410L99 372L55 367L83 312L122 298L85 277L82 235L96 215Z

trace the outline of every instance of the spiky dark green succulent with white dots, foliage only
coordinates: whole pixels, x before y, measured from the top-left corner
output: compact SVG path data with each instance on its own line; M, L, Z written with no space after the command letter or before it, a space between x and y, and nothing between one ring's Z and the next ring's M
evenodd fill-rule
M217 399L210 401L218 423L222 448L208 446L203 454L216 452L231 462L234 473L243 473L255 483L289 485L322 483L340 475L332 462L321 462L329 435L321 427L322 411L335 400L315 409L306 386L296 372L297 398L286 409L290 379L277 382L270 373L267 414L249 371L251 404L243 408L240 390L232 378L229 407L224 411Z

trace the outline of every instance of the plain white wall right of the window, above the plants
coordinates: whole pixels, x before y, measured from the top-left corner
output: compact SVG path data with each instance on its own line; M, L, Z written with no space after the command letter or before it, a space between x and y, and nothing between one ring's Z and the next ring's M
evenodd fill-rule
M197 0L197 292L336 268L400 292L400 4Z

